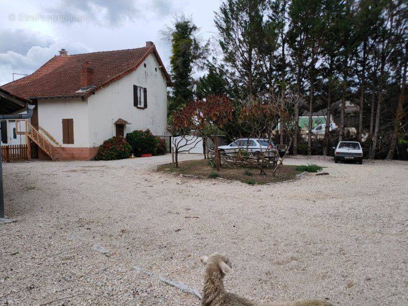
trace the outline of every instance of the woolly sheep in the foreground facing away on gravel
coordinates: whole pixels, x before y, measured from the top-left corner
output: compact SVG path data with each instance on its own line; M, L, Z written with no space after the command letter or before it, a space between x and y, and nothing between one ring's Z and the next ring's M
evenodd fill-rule
M238 294L225 291L223 278L226 274L233 272L231 262L226 256L214 253L210 257L202 256L200 261L206 267L202 306L333 306L323 300L299 300L270 304L253 302Z

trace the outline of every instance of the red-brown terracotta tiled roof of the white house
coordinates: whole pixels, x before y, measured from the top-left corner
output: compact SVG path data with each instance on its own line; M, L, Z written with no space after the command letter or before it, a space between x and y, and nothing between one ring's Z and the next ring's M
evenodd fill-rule
M34 73L2 86L3 89L25 98L55 96L89 96L92 92L108 86L124 77L153 53L171 86L169 74L157 53L155 45L126 50L54 56ZM85 62L93 69L95 87L78 93L81 88L81 68Z

